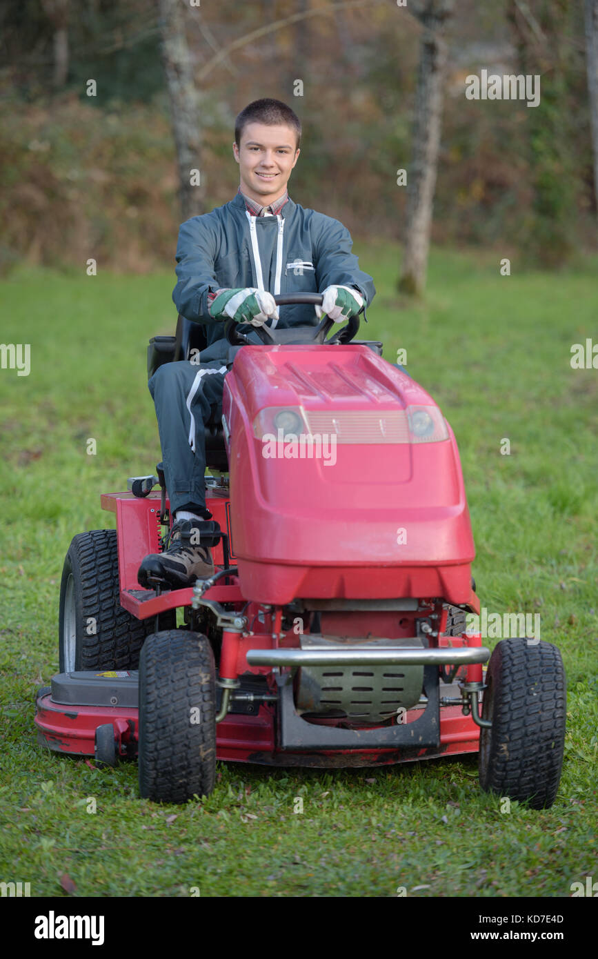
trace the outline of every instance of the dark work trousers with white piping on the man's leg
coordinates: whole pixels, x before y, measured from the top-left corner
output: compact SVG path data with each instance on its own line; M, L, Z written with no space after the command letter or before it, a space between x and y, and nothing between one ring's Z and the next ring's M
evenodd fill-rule
M205 424L222 415L226 366L214 363L163 363L150 377L160 433L164 478L171 516L188 509L207 518L204 473Z

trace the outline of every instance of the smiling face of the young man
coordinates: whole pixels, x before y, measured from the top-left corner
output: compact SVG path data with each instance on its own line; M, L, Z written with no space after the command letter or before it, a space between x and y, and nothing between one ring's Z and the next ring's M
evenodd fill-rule
M264 206L278 199L285 192L290 171L301 152L296 143L297 134L292 127L245 124L241 147L233 144L242 192Z

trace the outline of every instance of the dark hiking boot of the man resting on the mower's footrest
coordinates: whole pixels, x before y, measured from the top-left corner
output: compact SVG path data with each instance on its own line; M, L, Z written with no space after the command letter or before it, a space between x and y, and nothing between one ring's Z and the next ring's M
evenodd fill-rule
M196 579L207 579L214 573L212 552L199 543L198 523L177 520L167 537L164 552L150 553L139 567L141 586L151 589L150 577L165 579L174 589L194 586Z

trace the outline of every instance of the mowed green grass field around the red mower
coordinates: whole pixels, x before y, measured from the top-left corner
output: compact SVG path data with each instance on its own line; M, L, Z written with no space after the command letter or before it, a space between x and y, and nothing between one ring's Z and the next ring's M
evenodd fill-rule
M136 763L44 751L34 690L58 670L58 589L72 536L111 526L102 491L160 458L146 345L173 332L173 272L22 271L0 284L0 880L32 896L563 897L598 877L598 263L499 275L498 256L431 256L425 303L394 288L397 248L356 245L378 288L360 335L440 405L459 443L490 612L540 613L568 680L561 789L542 812L482 794L475 757L348 771L219 764L207 800L140 801ZM598 362L598 361L597 361ZM88 456L87 440L97 442ZM500 454L508 438L511 455ZM488 644L494 646L495 641ZM97 811L89 813L89 798ZM295 798L303 813L294 813ZM66 879L65 877L68 877ZM71 881L69 881L71 880Z

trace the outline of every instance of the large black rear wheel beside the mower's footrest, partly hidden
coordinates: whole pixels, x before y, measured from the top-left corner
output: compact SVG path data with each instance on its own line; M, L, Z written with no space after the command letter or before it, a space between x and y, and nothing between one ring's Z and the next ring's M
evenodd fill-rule
M155 617L137 620L120 604L115 529L92 529L71 542L62 568L59 615L60 672L136 669ZM175 610L160 615L166 628Z

